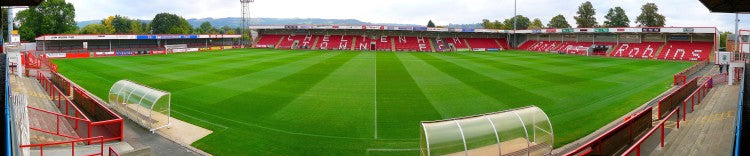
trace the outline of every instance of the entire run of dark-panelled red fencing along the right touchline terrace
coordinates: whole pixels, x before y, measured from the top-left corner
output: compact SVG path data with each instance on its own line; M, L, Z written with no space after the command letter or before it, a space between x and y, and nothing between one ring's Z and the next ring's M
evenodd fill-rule
M657 117L652 119L653 107L635 114L626 121L615 126L609 131L592 139L588 143L576 148L565 154L571 155L636 155L641 153L651 153L657 144L664 147L664 138L673 129L668 126L680 127L680 119L683 121L687 116L687 109L694 111L695 105L704 100L708 92L713 88L713 78L706 77L706 81L698 85L698 79L694 78L687 83L683 83L677 90L671 92L658 102ZM680 105L682 104L682 105ZM682 106L682 107L680 107ZM682 114L680 114L682 110ZM661 121L652 125L651 121ZM642 137L642 132L648 130ZM659 131L658 137L653 134ZM624 147L628 147L624 153L620 153Z

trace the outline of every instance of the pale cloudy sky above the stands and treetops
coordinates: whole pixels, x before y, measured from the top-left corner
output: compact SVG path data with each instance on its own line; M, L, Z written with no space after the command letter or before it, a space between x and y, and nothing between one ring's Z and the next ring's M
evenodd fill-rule
M239 0L67 0L76 8L76 21L110 15L152 19L162 12L185 18L239 17ZM539 18L546 25L562 14L575 26L573 16L585 0L520 0L518 14ZM601 24L610 8L622 7L635 26L640 7L653 2L666 16L666 26L718 27L734 31L734 14L711 13L698 0L591 0ZM437 25L479 23L513 16L512 0L256 0L251 17L358 19L373 23ZM740 28L750 28L750 15L740 15Z

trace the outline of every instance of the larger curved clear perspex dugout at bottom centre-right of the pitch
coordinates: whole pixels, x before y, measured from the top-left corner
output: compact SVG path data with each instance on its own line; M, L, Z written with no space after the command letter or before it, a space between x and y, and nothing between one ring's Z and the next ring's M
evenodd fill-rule
M536 106L421 123L421 155L550 155L554 133Z

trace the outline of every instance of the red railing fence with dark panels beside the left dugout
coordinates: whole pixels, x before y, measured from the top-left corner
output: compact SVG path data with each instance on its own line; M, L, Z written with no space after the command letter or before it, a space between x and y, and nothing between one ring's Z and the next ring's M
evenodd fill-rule
M56 121L54 131L50 127L34 127L34 130L67 138L103 136L104 141L122 140L123 119L102 105L101 102L98 102L98 100L90 98L86 91L75 86L73 100L71 100L43 73L39 72L37 79L42 84L44 90L50 95L50 99L56 102L60 111L64 113L30 109L35 110L34 113L40 114L38 116L46 117L46 119L55 118L54 120ZM66 123L72 126L75 134L66 133L65 131L60 132L61 124Z

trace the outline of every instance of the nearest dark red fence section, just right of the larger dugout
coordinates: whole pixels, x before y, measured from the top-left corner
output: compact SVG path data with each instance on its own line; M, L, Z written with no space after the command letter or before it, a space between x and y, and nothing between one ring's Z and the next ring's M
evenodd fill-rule
M653 108L648 107L632 118L626 120L591 141L565 154L579 155L615 155L622 147L631 145L637 137L651 128Z

